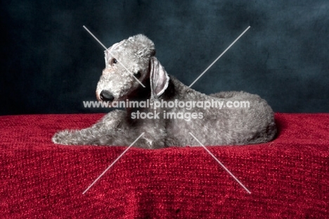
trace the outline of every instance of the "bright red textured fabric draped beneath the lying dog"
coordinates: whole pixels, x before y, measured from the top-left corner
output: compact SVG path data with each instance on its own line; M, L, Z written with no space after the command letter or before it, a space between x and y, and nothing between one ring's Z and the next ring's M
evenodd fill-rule
M0 117L0 217L329 217L329 114L276 113L273 142L208 147L251 194L202 147L131 148L82 194L127 147L61 146L51 136L102 116Z

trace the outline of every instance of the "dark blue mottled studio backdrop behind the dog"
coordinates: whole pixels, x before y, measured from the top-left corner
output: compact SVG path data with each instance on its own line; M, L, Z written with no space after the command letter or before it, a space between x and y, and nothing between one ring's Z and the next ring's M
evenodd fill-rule
M103 48L143 33L171 75L276 112L329 112L329 1L1 1L0 114L89 113Z

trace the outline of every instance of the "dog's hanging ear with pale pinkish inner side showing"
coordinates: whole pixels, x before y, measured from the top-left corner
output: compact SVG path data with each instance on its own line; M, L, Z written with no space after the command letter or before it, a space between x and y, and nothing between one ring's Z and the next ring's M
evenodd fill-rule
M150 89L155 98L164 93L169 85L169 75L157 58L150 58Z

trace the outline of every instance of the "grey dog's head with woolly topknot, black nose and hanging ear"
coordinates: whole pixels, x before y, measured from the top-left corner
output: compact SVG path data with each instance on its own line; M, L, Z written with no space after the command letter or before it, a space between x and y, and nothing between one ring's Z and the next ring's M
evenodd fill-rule
M155 58L153 42L144 35L129 37L105 51L105 69L97 85L97 99L124 100L148 83L148 79L153 96L160 96L168 87L169 76Z

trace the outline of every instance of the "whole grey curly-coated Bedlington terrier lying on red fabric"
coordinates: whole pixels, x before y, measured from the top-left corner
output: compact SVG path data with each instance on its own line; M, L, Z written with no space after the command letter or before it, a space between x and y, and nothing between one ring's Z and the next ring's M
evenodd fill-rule
M183 85L167 74L144 35L105 51L96 96L110 107L126 103L126 110L110 111L82 130L57 132L54 143L128 146L145 132L134 146L159 149L200 146L188 132L208 146L258 144L276 135L273 111L264 99L246 92L207 96Z

